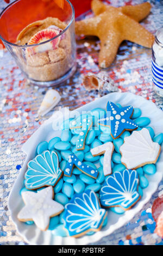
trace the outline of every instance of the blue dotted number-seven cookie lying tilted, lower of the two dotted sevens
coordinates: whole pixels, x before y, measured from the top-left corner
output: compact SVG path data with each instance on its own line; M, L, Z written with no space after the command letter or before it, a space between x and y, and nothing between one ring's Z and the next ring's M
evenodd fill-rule
M65 170L64 170L64 175L65 176L69 176L69 177L71 176L74 165L79 170L81 170L83 173L85 173L86 175L89 175L94 179L97 178L98 170L94 169L94 168L90 167L89 165L80 161L78 159L78 157L76 155L74 155L73 153L70 154L70 156L68 157L68 161L67 161L67 164L66 164L66 167L65 167Z

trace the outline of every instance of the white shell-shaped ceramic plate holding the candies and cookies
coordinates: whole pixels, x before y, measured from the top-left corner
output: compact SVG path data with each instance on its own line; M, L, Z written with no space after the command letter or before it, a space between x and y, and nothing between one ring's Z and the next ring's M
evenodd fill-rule
M149 117L151 119L150 126L153 127L155 134L162 132L163 128L163 112L156 107L156 105L145 100L141 96L137 96L131 93L111 93L95 100L83 107L76 110L79 112L89 111L93 108L101 107L105 109L108 101L114 103L120 103L122 106L132 105L133 107L139 107L142 111L142 117ZM74 111L73 111L74 112ZM71 112L71 113L73 113ZM54 121L54 123L53 123ZM27 163L35 156L36 145L41 141L49 141L54 136L59 136L60 131L54 131L52 127L55 126L57 120L52 117L48 119L45 124L41 125L39 129L24 143L22 150L27 154L26 160L21 168L21 172L17 177L17 180L10 192L9 196L9 210L11 212L12 221L16 225L18 233L23 237L25 241L32 245L86 245L97 242L104 236L111 234L116 229L122 227L137 214L143 206L152 197L152 194L157 190L159 182L163 176L163 153L161 150L160 160L156 164L157 171L154 175L147 176L149 185L143 190L143 197L141 200L130 210L126 211L122 215L115 214L112 211L108 212L108 224L101 231L87 236L84 235L80 238L74 237L61 237L54 236L51 231L41 231L36 225L27 225L17 220L17 214L23 207L23 201L20 196L20 190L23 187L24 173L27 170Z

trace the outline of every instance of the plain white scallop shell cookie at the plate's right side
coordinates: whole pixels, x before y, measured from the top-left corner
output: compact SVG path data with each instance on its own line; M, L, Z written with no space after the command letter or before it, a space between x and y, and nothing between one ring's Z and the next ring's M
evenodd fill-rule
M160 154L160 145L153 142L149 131L143 128L124 138L120 147L122 154L121 162L128 168L134 169L147 163L155 163Z

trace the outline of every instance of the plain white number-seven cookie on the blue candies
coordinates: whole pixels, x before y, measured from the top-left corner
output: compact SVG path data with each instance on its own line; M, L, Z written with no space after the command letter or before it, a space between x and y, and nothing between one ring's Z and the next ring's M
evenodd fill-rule
M111 174L111 156L113 150L114 145L112 142L106 142L96 148L91 149L93 156L104 154L103 172L105 176Z

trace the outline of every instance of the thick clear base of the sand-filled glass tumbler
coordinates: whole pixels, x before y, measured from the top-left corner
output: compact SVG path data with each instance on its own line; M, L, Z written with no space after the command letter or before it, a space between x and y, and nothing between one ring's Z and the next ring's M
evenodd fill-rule
M77 69L77 63L75 63L74 66L70 70L68 70L64 76L56 80L41 82L41 81L33 80L31 78L27 78L27 83L29 85L38 86L38 87L54 87L54 86L57 86L58 84L65 82L68 78L70 78L74 74L76 69Z

